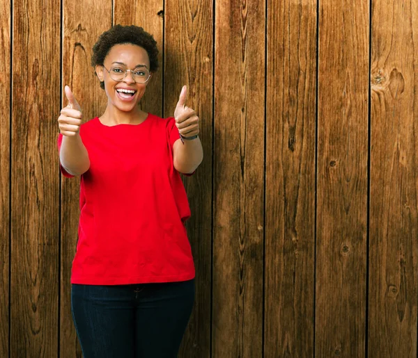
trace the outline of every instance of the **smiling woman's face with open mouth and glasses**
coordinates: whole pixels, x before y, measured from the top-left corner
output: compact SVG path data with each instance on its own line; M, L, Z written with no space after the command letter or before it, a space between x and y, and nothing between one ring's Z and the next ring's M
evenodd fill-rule
M146 83L136 83L132 76L135 74L143 75L144 66L149 72L150 60L148 54L143 47L136 44L116 44L111 47L109 54L104 58L104 67L96 65L96 73L100 81L104 81L104 90L106 91L109 104L113 104L118 110L123 112L132 111L145 93ZM106 70L107 69L107 70ZM108 71L114 74L121 74L125 70L127 72L123 81L115 81L111 79ZM146 72L145 70L145 72ZM127 93L128 92L130 93ZM134 91L132 95L132 90Z

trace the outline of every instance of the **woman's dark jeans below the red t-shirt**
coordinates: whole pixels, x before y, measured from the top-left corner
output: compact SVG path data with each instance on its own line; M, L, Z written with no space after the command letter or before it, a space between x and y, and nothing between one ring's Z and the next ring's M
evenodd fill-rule
M175 358L194 303L194 279L71 285L84 358Z

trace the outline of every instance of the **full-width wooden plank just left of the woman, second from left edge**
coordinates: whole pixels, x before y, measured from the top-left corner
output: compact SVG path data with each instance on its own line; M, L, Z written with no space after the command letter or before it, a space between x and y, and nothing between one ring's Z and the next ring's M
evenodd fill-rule
M13 1L10 355L58 350L60 4Z

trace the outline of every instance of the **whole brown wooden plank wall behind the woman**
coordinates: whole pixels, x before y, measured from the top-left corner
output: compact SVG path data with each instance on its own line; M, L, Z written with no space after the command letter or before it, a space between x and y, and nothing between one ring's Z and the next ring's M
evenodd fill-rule
M183 84L205 158L185 178L196 303L180 357L416 357L418 0L3 0L0 357L82 357L70 312L79 179L68 84L106 105L91 47L153 33L141 106Z

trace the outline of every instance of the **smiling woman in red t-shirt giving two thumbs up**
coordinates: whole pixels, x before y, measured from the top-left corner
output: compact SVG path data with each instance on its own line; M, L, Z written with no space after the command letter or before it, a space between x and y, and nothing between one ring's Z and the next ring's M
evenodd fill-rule
M59 116L61 172L81 175L71 307L85 358L176 357L194 302L194 263L180 172L203 160L199 117L181 90L173 117L141 111L157 70L153 36L114 26L93 47L107 94L82 124L68 86Z

